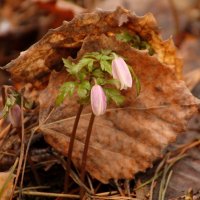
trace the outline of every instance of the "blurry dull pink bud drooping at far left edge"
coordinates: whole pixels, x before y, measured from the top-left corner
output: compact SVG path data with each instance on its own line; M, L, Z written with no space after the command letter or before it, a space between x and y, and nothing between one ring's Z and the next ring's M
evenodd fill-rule
M15 104L9 110L8 118L13 127L21 126L21 108L19 105Z

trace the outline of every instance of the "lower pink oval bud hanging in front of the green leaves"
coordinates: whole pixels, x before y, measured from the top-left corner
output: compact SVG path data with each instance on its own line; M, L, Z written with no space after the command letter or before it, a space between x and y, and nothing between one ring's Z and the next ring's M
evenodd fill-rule
M94 85L91 89L91 106L96 116L103 115L106 111L106 95L100 85Z

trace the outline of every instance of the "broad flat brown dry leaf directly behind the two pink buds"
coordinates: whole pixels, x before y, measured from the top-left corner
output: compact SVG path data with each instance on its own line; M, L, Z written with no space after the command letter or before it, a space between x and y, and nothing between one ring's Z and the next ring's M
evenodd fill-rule
M168 66L114 38L105 35L86 38L79 56L101 49L111 49L126 57L142 86L138 98L134 88L126 91L124 108L108 111L95 121L87 170L107 183L111 178L132 178L150 167L162 149L184 130L198 101ZM78 109L74 98L54 107L59 84L66 77L64 72L52 73L48 88L40 96L40 130L46 141L64 155ZM87 113L89 109L86 108ZM83 115L79 123L73 153L76 166L80 166L88 119L89 115Z

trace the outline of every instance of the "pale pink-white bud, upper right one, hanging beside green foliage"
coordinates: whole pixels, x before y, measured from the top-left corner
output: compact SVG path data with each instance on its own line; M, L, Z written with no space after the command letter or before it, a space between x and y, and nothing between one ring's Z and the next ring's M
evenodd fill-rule
M113 78L121 83L120 90L132 87L132 76L127 64L121 57L116 57L112 61L112 74Z

